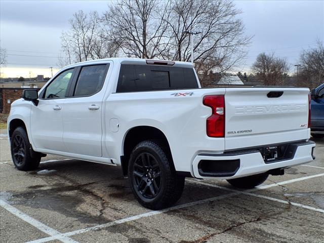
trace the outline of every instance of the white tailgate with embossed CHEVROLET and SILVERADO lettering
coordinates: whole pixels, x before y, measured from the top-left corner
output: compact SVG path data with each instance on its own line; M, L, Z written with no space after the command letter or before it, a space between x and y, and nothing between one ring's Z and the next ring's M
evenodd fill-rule
M309 138L306 88L226 88L225 149Z

